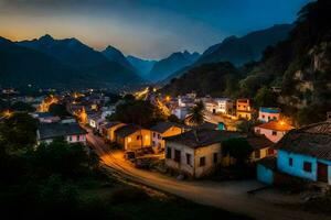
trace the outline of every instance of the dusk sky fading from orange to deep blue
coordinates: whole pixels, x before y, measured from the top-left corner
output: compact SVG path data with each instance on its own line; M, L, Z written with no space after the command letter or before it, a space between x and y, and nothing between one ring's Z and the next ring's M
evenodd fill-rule
M229 35L291 23L310 0L0 0L0 36L76 37L95 50L159 59Z

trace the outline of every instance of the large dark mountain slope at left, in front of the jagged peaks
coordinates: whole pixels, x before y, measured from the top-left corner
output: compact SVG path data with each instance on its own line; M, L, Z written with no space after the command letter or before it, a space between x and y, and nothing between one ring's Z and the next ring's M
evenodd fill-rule
M41 37L41 42L54 41L50 36ZM39 87L105 87L111 85L139 84L143 80L131 70L121 65L109 62L103 54L96 52L92 56L93 61L86 61L88 64L78 65L86 56L83 54L79 62L75 59L74 64L63 62L60 53L52 55L51 48L54 48L50 42L50 50L35 41L29 46L21 46L20 43L13 43L0 37L0 85L20 86L32 84ZM76 42L76 41L74 41ZM57 43L55 43L57 44ZM77 46L76 43L67 44L68 52L63 47L54 50L62 51L62 54L70 54ZM86 51L86 46L78 44L78 48ZM79 50L78 50L79 51ZM88 50L89 51L89 50ZM89 51L90 52L90 51ZM76 54L73 52L72 54ZM100 56L99 56L100 55ZM72 57L74 59L74 57Z

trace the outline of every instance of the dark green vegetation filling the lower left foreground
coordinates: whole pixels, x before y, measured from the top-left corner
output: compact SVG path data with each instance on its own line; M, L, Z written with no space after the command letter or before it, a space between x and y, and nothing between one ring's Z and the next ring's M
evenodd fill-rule
M29 139L13 139L25 129ZM118 182L79 144L34 148L34 129L24 113L0 122L1 219L246 219Z

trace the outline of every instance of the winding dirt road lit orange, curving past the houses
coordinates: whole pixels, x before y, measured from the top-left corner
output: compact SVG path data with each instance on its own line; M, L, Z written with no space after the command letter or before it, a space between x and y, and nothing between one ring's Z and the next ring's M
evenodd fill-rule
M218 207L255 219L331 219L331 217L290 209L286 205L276 205L248 195L247 191L263 187L261 184L255 180L222 183L211 180L178 180L157 172L135 168L124 160L122 153L110 151L102 138L90 132L87 134L87 141L111 172L116 172L116 174L132 182L170 193L197 204Z

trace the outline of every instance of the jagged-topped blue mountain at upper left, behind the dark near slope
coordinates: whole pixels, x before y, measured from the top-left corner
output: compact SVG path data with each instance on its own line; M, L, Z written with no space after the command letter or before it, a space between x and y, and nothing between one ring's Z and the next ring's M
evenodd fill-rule
M88 47L76 38L55 40L46 34L40 38L22 41L17 44L43 52L71 66L93 66L107 62L107 58L102 53Z

